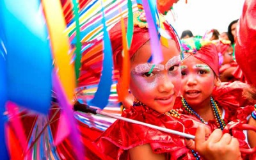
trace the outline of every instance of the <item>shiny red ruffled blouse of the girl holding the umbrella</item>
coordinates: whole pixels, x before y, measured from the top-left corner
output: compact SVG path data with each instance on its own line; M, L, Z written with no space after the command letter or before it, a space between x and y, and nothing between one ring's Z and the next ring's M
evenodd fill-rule
M122 116L193 135L199 122L192 120L191 116L180 115L180 118L173 118L143 106L131 107ZM97 144L109 159L129 159L127 150L144 144L150 144L154 153L168 152L172 159L195 159L185 147L184 138L122 120L116 120L97 140Z

